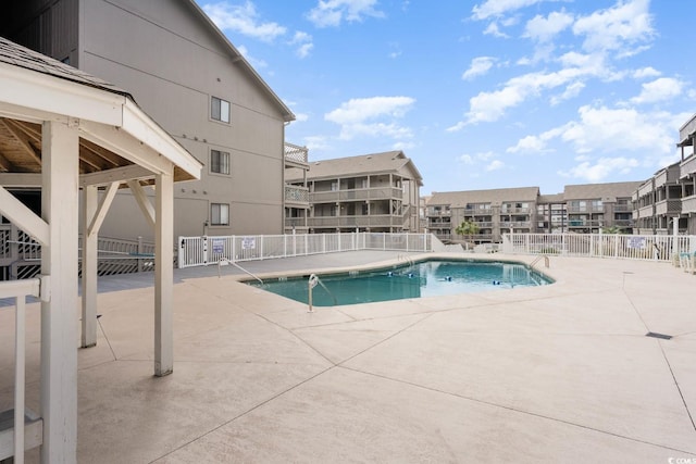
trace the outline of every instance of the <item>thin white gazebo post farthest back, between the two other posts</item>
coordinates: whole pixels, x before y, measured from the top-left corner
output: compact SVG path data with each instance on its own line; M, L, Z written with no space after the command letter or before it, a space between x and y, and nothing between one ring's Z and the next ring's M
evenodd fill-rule
M97 344L97 234L89 234L90 224L97 214L97 186L83 188L83 321L82 348Z

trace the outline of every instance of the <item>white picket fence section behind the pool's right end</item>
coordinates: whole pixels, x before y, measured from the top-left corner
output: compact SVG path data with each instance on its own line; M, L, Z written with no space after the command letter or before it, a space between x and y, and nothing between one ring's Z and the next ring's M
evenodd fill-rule
M674 261L696 251L696 236L506 234L504 253Z

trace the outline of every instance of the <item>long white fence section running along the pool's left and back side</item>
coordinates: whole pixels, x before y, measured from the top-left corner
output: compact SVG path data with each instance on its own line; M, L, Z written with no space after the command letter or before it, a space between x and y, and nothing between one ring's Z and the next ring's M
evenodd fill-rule
M179 237L178 267L356 250L432 251L433 236L349 233Z

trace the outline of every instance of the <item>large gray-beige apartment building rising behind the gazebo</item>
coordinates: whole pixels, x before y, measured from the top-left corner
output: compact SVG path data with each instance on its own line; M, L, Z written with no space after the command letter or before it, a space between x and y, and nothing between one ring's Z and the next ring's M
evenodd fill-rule
M175 190L175 235L283 233L295 116L194 0L10 0L0 36L127 88L203 163ZM128 189L101 234L152 237Z

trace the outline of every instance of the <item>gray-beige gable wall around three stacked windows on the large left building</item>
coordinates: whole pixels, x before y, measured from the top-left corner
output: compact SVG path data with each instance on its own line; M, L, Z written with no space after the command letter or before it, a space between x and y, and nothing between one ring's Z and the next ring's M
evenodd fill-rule
M117 3L80 4L80 67L128 89L206 165L200 181L175 189L175 234L201 234L211 203L229 205L229 225L211 225L210 235L282 234L284 122L274 102L185 2ZM210 117L211 97L231 103L229 124ZM229 175L210 172L211 149L229 153ZM112 210L102 235L121 218Z

